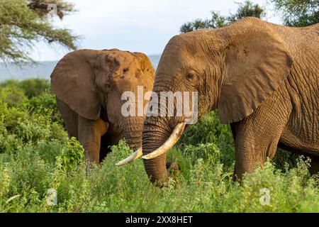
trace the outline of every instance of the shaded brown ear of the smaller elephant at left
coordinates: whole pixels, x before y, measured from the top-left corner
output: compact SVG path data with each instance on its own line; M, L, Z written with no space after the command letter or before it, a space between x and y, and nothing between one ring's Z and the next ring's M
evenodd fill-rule
M60 60L51 74L51 89L80 116L96 120L101 104L94 84L94 66L88 59L97 57L95 50L69 52Z

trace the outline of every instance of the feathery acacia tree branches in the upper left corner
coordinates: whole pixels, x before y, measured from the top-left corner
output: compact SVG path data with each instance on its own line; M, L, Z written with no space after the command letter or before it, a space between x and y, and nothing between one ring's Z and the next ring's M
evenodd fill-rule
M65 28L55 28L48 19L55 4L62 19L74 12L74 6L64 0L1 0L0 4L0 60L15 63L34 62L30 50L39 40L57 43L75 50L77 36Z

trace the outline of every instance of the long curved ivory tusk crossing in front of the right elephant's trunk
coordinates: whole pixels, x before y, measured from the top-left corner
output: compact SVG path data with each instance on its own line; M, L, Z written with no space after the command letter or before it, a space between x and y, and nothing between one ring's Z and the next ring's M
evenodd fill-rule
M185 122L178 123L177 126L175 126L172 134L169 136L169 138L166 140L166 142L157 148L152 153L149 153L148 155L142 156L144 159L153 159L155 157L158 157L159 155L163 155L164 153L167 153L169 149L171 149L175 143L177 143L177 140L181 137L181 133L183 133L185 128Z

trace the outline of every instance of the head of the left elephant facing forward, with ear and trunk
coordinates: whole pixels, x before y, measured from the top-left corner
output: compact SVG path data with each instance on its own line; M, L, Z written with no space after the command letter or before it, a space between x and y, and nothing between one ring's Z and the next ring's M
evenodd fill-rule
M123 116L123 92L151 91L154 69L140 52L76 50L57 63L51 75L51 89L58 99L79 116L101 118L118 126L126 142L136 149L141 145L144 116Z

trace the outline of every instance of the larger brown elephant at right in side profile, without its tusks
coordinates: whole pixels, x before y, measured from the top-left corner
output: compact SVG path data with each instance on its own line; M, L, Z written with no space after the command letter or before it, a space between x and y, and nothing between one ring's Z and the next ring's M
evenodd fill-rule
M277 146L319 167L319 24L289 28L245 18L230 26L174 36L155 75L154 92L197 91L202 115L218 109L235 138L235 176L274 157ZM143 155L169 138L184 117L147 117ZM169 174L166 154L144 160L152 182Z

